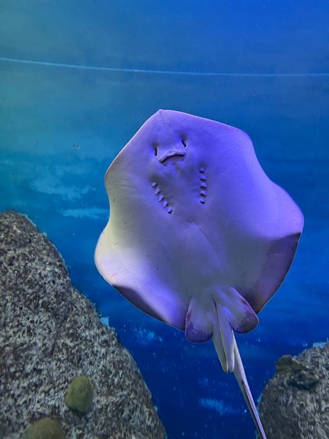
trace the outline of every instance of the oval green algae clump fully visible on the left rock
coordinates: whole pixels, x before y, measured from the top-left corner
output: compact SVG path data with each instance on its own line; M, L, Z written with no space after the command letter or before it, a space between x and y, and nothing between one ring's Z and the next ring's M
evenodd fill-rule
M83 415L92 408L93 398L94 386L92 381L85 375L76 376L67 388L65 404L77 415Z

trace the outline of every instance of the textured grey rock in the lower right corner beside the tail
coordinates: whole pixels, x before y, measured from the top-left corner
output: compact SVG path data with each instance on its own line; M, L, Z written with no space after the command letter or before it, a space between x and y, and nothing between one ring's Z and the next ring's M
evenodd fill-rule
M329 438L329 343L283 356L260 401L267 439Z

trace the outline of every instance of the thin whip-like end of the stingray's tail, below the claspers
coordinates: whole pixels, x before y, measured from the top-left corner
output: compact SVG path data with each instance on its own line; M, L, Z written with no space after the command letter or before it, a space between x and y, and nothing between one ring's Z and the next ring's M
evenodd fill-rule
M255 402L253 401L253 395L251 395L251 390L249 388L248 381L246 379L246 372L244 372L244 366L242 364L242 359L239 354L239 349L237 348L237 342L235 341L234 336L233 336L233 345L234 345L234 357L235 357L235 367L233 372L235 374L235 378L237 379L239 388L242 391L242 395L244 395L244 399L251 413L251 416L253 417L253 422L255 422L255 426L260 435L260 438L267 439L262 426L262 422L260 421L260 416L258 415L258 411L255 406Z

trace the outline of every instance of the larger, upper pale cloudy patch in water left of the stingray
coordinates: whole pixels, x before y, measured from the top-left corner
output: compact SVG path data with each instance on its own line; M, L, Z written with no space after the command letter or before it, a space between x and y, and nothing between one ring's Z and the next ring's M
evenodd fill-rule
M74 201L81 199L83 195L92 190L92 187L78 188L74 186L60 186L56 181L50 181L48 178L36 179L31 183L31 188L42 194L58 195L62 199Z

